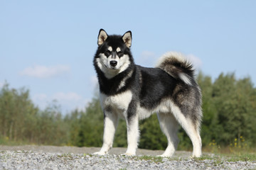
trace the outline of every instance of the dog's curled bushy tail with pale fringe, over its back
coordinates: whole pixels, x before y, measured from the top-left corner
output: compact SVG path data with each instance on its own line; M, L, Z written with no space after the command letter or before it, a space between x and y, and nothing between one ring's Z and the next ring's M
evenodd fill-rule
M192 85L195 71L192 64L181 53L167 52L161 56L156 68L163 69L175 79L180 79L185 84Z

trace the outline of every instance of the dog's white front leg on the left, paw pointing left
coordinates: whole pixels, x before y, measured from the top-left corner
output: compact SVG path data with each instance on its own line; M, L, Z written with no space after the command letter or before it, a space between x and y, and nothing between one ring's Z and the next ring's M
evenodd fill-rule
M104 155L109 152L113 145L114 132L117 128L117 124L118 116L114 113L105 112L103 145L100 152L95 152L94 154Z

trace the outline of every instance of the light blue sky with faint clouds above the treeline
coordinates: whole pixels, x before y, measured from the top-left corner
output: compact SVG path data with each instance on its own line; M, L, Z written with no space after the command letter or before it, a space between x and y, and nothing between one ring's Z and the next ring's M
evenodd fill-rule
M26 87L40 108L63 113L95 95L92 58L100 28L132 30L137 64L168 51L186 55L213 79L221 72L256 83L256 1L0 0L0 87Z

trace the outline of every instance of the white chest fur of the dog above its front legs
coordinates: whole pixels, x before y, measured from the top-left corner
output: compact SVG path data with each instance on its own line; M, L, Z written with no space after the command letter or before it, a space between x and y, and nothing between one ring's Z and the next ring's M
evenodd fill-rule
M121 115L122 117L126 114L129 103L132 101L132 91L124 91L121 94L114 96L107 96L100 93L100 104L105 110L111 108L111 111Z

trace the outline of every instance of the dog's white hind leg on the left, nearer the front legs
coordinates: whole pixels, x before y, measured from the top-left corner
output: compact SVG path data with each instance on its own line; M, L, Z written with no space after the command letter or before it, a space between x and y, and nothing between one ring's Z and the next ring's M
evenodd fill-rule
M162 132L166 135L168 140L168 146L164 154L159 155L160 157L171 157L178 146L178 122L171 113L157 113L159 124Z

